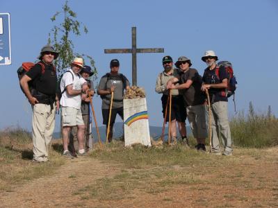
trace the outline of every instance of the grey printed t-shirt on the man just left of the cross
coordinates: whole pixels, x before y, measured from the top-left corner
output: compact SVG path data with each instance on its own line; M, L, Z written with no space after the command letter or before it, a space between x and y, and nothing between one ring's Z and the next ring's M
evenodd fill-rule
M117 76L112 76L108 78L108 76L103 76L99 81L99 87L97 89L111 89L111 85L115 86L115 91L113 95L113 108L120 108L123 106L123 98L124 98L124 85L123 80L125 80L126 86L129 86L129 80L127 78L120 78L120 74ZM102 98L102 109L109 109L111 103L111 94L107 94L105 96L101 96Z

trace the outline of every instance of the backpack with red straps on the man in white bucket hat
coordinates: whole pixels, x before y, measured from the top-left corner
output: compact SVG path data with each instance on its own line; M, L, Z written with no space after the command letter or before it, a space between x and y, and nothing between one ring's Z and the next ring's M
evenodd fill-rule
M215 69L215 74L218 77L218 79L219 79L219 69L220 69L221 66L223 66L226 69L226 71L229 75L228 89L227 89L227 97L229 98L230 96L235 94L238 82L236 81L236 76L234 76L234 70L233 70L233 67L231 65L231 62L228 62L228 61L218 62L218 65Z

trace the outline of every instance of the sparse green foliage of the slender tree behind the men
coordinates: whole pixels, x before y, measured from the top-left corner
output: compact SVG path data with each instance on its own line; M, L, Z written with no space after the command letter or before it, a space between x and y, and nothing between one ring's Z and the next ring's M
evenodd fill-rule
M60 77L60 75L65 72L65 69L70 66L74 57L81 57L83 60L88 60L88 62L90 62L88 65L90 65L94 71L93 79L95 80L97 76L95 61L90 55L75 53L74 43L70 39L72 35L75 35L76 37L81 35L81 27L83 28L84 33L88 33L88 29L81 22L77 21L76 12L70 8L68 1L65 1L63 11L56 12L56 14L51 17L51 21L58 21L58 17L62 15L61 22L51 29L48 40L48 43L53 45L54 48L59 51L59 57L55 60L58 76Z

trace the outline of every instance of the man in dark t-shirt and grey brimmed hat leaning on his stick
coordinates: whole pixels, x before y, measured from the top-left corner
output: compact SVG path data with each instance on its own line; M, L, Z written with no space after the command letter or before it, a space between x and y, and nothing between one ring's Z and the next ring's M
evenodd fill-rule
M175 63L180 69L180 73L167 83L167 89L182 90L186 113L193 136L197 139L197 150L206 151L205 139L206 131L206 110L204 107L204 93L201 91L202 78L196 69L190 68L191 61L185 56L181 56ZM181 83L173 85L173 83Z

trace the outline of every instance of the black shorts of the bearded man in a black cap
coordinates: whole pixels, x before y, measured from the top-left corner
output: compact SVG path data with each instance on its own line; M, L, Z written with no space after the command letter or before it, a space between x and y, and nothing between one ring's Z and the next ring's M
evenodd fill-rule
M162 102L162 112L163 112L163 118L165 118L165 110L167 105L167 95L163 95L161 97ZM169 121L169 107L170 104L168 104L167 107L167 116L166 116L166 122ZM172 96L172 107L171 107L171 121L176 119L179 122L186 122L186 107L184 105L183 96Z

